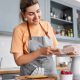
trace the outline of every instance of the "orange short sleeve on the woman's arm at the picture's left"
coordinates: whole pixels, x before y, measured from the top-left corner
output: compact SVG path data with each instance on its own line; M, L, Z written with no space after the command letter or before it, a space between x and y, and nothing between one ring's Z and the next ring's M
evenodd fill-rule
M22 32L19 28L13 30L11 53L23 53Z

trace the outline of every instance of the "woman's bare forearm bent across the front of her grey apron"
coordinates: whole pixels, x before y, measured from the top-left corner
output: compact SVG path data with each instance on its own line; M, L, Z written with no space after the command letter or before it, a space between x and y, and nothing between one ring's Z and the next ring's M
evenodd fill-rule
M16 58L14 56L14 58L15 58L16 64L20 66L20 65L23 65L26 63L30 63L31 61L35 60L40 55L41 55L40 52L37 50L37 51L29 53L29 54L21 55L18 58Z

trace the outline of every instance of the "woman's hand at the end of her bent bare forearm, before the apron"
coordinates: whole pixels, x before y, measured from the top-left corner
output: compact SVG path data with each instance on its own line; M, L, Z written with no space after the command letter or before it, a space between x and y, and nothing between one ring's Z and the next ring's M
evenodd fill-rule
M60 55L61 54L61 51L60 49L53 49L51 47L43 47L43 48L40 48L38 49L39 53L41 55Z

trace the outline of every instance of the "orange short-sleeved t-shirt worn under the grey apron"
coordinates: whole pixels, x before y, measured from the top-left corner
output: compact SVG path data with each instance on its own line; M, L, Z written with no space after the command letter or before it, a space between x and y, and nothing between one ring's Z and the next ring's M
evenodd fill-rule
M53 28L51 27L50 23L47 21L40 21L40 24L44 28L46 32L48 32L49 37L53 41L53 46L56 47L58 42L55 38ZM37 26L29 26L31 36L45 36L45 32L42 30L40 25ZM12 43L11 43L11 53L28 53L28 41L29 41L29 33L27 24L21 23L13 30L12 35Z

